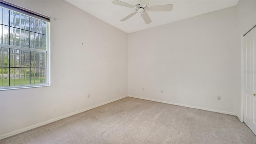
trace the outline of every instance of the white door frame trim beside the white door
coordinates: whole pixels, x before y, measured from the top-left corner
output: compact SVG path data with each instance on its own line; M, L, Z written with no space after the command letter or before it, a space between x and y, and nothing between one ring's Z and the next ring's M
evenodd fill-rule
M256 25L253 26L250 30L248 30L248 32L250 32L252 29L256 28ZM244 36L246 34L248 34L248 32L246 32L245 34L241 35L241 117L238 116L236 114L236 116L238 117L238 119L241 122L244 122Z

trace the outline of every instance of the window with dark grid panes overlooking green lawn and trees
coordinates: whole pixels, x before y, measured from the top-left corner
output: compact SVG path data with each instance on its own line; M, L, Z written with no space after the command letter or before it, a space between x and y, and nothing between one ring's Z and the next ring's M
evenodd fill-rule
M0 3L0 89L45 86L49 19Z

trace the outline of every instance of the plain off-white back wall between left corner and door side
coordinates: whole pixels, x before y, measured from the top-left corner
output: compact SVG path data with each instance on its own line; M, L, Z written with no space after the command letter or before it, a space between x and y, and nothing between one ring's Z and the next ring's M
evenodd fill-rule
M128 94L235 115L241 93L236 29L233 6L128 34Z

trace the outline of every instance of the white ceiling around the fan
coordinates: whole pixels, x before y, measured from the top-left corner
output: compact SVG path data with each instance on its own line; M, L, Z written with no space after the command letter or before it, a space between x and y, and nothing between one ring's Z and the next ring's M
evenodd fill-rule
M228 8L230 6L236 6L239 0L150 0L149 6L173 4L174 7L170 12L148 12L148 15L152 20L150 24L145 24L140 13L132 16L125 22L120 22L122 18L135 10L133 8L112 4L112 0L66 1L126 33L131 33ZM136 0L120 1L129 4L134 4L136 2Z

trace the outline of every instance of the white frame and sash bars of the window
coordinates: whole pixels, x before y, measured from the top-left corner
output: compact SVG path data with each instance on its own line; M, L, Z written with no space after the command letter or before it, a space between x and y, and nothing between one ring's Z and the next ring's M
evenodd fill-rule
M10 11L14 11L14 12L18 12L20 14L23 14L23 15L26 15L26 16L29 16L32 18L36 18L36 19L46 22L46 50L41 50L41 49L36 49L36 48L28 48L28 47L23 47L23 46L14 46L14 45L10 45L10 42L9 42L9 44L0 44L0 47L8 48L9 51L10 51L10 49L16 49L16 50L28 50L30 52L44 52L45 53L45 83L25 84L25 85L16 85L16 86L0 86L0 91L1 90L20 89L20 88L35 88L35 87L50 86L50 57L51 57L50 56L50 17L44 16L42 14L38 14L37 12L27 10L26 8L22 8L20 6L10 4L10 3L2 1L2 0L0 0L0 7L8 9L9 13L10 13ZM15 10L15 8L17 10ZM9 16L10 16L10 14L9 14ZM41 18L39 18L39 17L41 17ZM46 20L46 19L48 19L48 20ZM10 40L10 21L9 21L8 27L9 27L8 34L9 34L9 40ZM29 30L29 31L31 31L31 30ZM10 52L9 52L9 54L10 54ZM8 57L10 57L9 54L8 54ZM9 60L10 60L10 58L9 58ZM31 60L31 57L30 57L30 60ZM10 62L9 62L9 64L10 64ZM9 69L9 76L10 76L10 67L11 67L10 65L7 67ZM30 66L28 68L31 69L32 67ZM31 78L31 71L30 71L30 78ZM10 77L9 77L9 82L10 82Z

